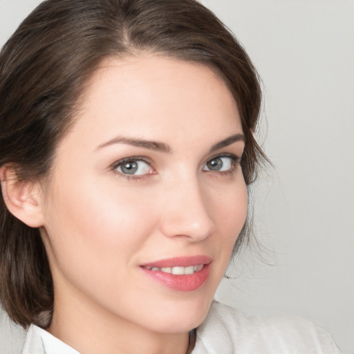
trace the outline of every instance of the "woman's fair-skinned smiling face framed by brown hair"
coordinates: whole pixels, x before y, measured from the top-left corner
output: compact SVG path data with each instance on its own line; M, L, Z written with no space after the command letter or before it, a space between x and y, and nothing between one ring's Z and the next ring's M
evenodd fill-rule
M232 95L201 64L109 59L75 118L42 201L55 315L191 330L247 212Z

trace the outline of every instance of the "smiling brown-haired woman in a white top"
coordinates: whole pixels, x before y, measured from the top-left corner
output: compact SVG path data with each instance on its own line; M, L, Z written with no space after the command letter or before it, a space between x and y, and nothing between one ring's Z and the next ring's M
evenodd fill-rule
M29 353L337 353L213 303L248 239L257 72L193 0L49 0L0 57L1 302Z

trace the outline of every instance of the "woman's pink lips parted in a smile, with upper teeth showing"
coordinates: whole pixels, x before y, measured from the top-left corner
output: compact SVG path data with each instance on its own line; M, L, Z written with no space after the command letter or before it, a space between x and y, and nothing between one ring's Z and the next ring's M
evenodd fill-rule
M145 274L177 291L200 288L209 277L212 259L207 256L176 257L140 265Z

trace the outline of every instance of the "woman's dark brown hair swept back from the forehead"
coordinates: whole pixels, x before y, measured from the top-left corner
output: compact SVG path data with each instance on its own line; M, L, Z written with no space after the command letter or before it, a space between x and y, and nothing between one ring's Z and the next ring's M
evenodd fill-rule
M0 53L0 167L41 178L72 122L84 84L103 59L149 51L213 68L234 95L245 135L247 185L264 158L254 131L261 106L257 72L239 42L195 0L47 0ZM39 230L0 198L0 299L10 318L46 328L53 280ZM235 250L247 239L245 227Z

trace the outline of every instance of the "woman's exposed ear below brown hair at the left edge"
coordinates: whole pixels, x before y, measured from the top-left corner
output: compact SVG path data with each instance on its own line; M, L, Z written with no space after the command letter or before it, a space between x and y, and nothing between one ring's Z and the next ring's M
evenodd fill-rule
M39 183L17 180L15 168L10 165L1 166L0 181L3 200L10 213L30 227L43 226L43 195Z

